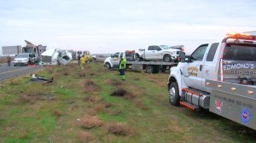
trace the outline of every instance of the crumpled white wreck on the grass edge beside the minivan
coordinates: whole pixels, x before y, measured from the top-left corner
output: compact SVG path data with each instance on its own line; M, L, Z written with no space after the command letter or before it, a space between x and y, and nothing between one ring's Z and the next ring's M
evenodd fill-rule
M67 50L47 49L42 54L42 65L67 65L72 58L72 53Z

